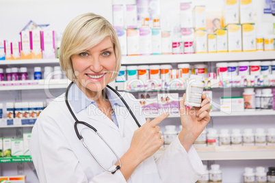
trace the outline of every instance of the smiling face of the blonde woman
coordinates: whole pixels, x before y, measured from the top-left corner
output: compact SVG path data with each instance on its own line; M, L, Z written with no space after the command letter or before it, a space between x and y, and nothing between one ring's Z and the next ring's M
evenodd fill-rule
M109 83L116 68L114 43L110 36L105 37L99 44L71 56L75 83L89 98L95 98Z

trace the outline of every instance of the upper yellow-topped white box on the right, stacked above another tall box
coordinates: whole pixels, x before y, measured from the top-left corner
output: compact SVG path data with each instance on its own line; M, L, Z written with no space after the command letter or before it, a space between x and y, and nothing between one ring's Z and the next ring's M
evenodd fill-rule
M253 1L254 0L240 0L239 16L240 23L254 23L253 21Z

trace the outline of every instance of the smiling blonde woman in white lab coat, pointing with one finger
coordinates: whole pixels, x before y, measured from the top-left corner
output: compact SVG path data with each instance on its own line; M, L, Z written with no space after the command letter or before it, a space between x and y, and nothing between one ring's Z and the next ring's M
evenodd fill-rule
M202 163L192 143L209 122L209 101L202 96L202 107L189 114L181 101L181 130L157 159L153 154L163 144L159 124L164 113L150 121L142 115L139 102L131 94L122 97L133 111L138 128L125 104L106 85L120 69L120 46L112 25L102 16L83 14L64 31L60 66L73 85L68 104L79 121L94 126L120 158L90 128L77 130L92 154L77 138L64 94L42 111L32 131L31 156L43 182L196 182Z

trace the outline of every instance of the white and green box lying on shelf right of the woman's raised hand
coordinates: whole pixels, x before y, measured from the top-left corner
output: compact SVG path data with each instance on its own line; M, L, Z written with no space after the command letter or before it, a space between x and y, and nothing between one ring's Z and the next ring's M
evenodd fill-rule
M220 111L233 112L244 111L244 97L221 97L220 98Z

